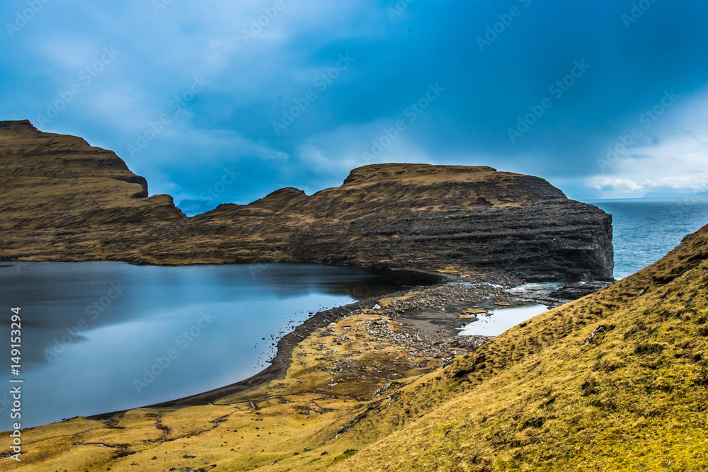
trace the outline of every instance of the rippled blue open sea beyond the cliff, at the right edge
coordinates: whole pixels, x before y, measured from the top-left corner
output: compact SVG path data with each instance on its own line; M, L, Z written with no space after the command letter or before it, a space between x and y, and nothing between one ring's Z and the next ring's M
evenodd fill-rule
M615 278L663 258L687 234L708 224L708 198L595 200L612 214Z

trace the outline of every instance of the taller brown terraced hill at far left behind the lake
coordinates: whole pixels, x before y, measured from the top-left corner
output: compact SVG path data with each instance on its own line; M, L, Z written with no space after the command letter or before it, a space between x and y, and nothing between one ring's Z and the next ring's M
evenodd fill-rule
M169 195L79 137L0 122L0 257L131 260L132 246L185 221Z

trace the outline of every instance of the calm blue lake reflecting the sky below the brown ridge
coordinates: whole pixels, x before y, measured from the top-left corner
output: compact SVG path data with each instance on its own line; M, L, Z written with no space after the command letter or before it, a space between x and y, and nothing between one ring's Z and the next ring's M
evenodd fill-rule
M22 374L13 378L24 379L22 425L31 427L247 379L310 313L399 289L356 267L21 263L0 267L0 335L7 345L10 309L21 307ZM0 430L11 426L8 370Z

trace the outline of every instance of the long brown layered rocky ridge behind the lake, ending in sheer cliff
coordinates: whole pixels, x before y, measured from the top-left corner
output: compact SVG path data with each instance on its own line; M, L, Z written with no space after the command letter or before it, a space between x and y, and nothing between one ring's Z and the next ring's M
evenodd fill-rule
M611 217L540 178L489 167L376 164L306 195L277 190L187 218L83 139L0 122L6 260L193 264L309 260L612 277Z

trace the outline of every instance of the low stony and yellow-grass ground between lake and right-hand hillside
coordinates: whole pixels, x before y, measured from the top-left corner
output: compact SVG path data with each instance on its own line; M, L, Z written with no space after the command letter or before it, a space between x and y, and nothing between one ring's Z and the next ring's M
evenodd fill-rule
M271 448L244 462L246 468L258 467L264 465L263 453L270 457L283 447L282 440L291 436L287 430L292 425L287 423L293 419L302 419L303 426L319 427L321 420L339 408L358 408L360 413L343 418L336 432L332 432L335 437L343 434L365 420L372 412L372 405L380 405L382 398L395 399L396 391L413 379L450 365L455 357L474 352L492 339L457 335L456 328L474 323L474 318L462 317L467 311L481 313L498 305L525 304L535 296L534 292L510 294L508 289L521 282L515 277L500 277L498 284L465 279L469 277L447 275L430 287L416 287L315 313L280 339L270 367L237 384L136 410L72 418L33 428L25 432L25 440L30 453L33 447L42 451L42 460L25 461L22 469L42 470L45 464L52 464L55 454L64 454L61 444L70 438L72 456L75 454L79 462L62 459L62 464L73 464L76 470L84 470L79 463L90 453L91 466L105 465L111 470L147 466L156 467L155 470L175 467L174 470L209 471L217 468L217 464L195 466L202 454L198 449L187 449L190 444L205 439L227 421L234 429L225 432L253 430L251 425L256 424L261 433L268 430L270 426L266 425L271 420L282 418L285 425L276 421L273 426L280 425L286 431L276 433L279 437L275 440L268 438L263 442L260 434L244 436L251 437L252 444ZM564 301L555 300L557 304ZM285 405L286 414L282 410ZM366 406L361 410L356 405ZM191 415L202 418L202 408L214 408L223 415L212 418L210 412L203 417L205 426L188 425L193 421ZM143 436L147 431L139 432L146 422L154 425L154 432L147 437ZM57 436L46 437L50 431ZM65 436L67 433L69 437ZM272 436L275 431L270 433ZM227 434L225 438L228 437L231 436ZM227 439L223 444L229 442ZM311 449L304 447L302 454L310 455L307 452ZM97 451L101 458L95 456ZM339 456L342 454L346 451ZM147 456L151 462L144 462Z

